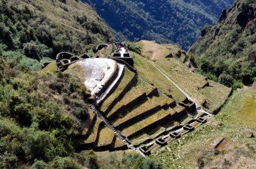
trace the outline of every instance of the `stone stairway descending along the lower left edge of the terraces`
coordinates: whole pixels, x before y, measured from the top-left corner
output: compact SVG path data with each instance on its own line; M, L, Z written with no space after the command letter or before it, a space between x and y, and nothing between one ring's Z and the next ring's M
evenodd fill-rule
M146 157L142 151L140 151L139 149L137 149L136 147L134 147L131 144L131 141L129 141L129 139L127 139L127 137L125 137L120 131L118 131L102 114L101 112L98 110L98 108L96 108L96 106L94 104L89 104L89 107L92 109L92 111L102 120L102 122L106 125L106 127L108 127L109 129L111 129L114 133L115 136L118 137L119 139L121 139L121 141L123 141L127 147L129 149L133 149L135 150L138 154L140 154L143 157Z

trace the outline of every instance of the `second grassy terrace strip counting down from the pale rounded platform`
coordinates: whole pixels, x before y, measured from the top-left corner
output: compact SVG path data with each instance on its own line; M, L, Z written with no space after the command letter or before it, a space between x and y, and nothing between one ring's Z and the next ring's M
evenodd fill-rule
M119 110L119 108L121 108L121 106L129 104L136 98L139 98L139 96L141 96L142 94L147 94L147 95L150 94L150 92L152 92L154 89L155 88L153 86L151 86L150 84L138 79L135 86L133 86L133 88L131 88L131 90L129 90L129 92L127 92L125 94L124 98L122 100L120 100L113 107L112 110L110 110L110 112L107 114L107 116L108 117L112 116L117 110ZM140 101L143 101L143 100L140 100Z

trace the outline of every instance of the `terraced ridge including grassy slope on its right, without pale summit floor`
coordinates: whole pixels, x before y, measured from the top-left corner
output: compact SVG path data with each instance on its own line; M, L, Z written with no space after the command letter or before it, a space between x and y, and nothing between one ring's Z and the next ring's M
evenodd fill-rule
M90 115L83 122L77 149L113 151L130 148L148 155L205 123L211 114L204 110L214 113L230 94L230 88L191 72L181 63L181 57L186 58L184 54L180 59L170 57L179 53L177 46L141 41L137 43L141 46L141 55L127 53L127 50L121 55L121 48L126 48L122 45L100 44L94 58L82 55L70 59L80 58L66 71L77 69L82 63L90 65L92 61L96 63L108 58L117 63L115 71L120 74L118 81L115 81L117 73L113 73L115 78L110 77L107 80L109 84L104 84L106 90L98 92L100 94L97 93L94 100L88 100ZM84 69L79 77L83 78L86 71L90 69ZM180 87L177 88L177 84ZM104 99L97 101L102 95Z

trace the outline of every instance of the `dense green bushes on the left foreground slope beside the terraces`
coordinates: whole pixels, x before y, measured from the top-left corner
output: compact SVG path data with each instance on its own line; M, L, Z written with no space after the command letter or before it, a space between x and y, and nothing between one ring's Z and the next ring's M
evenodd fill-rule
M73 157L79 119L86 119L88 109L81 97L86 92L82 81L69 73L20 68L15 61L0 59L0 166L16 168L36 159L48 163L57 156Z

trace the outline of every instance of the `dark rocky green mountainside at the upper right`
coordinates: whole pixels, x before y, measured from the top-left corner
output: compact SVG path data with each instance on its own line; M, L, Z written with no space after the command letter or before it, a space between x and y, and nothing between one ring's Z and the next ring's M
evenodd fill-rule
M201 71L226 86L256 81L256 3L235 1L224 10L216 26L206 26L189 53Z

